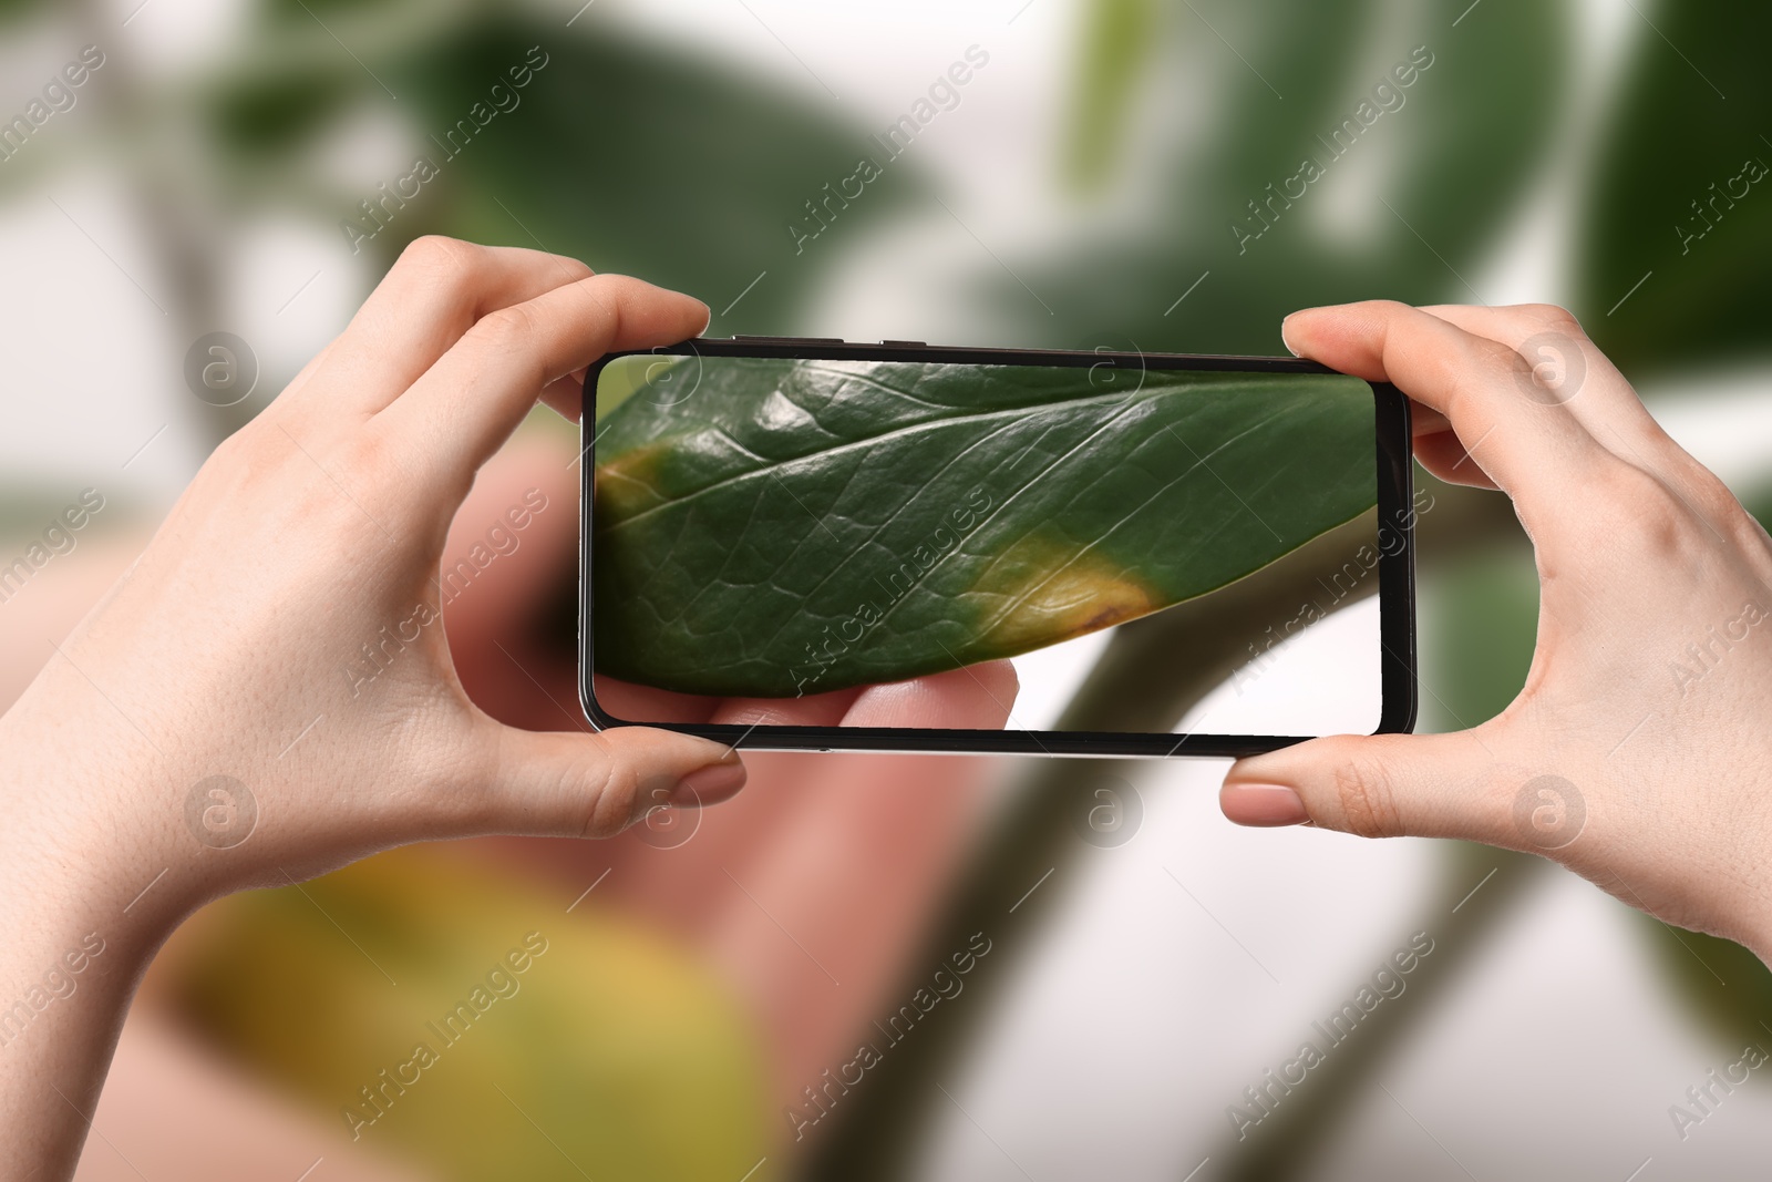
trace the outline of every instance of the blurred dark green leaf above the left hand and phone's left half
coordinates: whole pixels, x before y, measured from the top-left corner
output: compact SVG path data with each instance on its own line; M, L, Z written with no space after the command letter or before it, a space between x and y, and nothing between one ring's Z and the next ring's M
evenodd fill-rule
M509 71L532 53L546 66L517 89ZM700 296L723 328L780 331L835 261L833 239L858 239L916 186L907 165L877 159L868 136L820 103L597 27L562 37L491 18L386 71L439 175L376 248L392 255L425 232L544 248ZM496 110L494 85L516 105ZM496 113L470 138L475 105ZM865 156L884 175L852 183L861 195L847 198L842 184ZM808 204L829 223L817 237Z

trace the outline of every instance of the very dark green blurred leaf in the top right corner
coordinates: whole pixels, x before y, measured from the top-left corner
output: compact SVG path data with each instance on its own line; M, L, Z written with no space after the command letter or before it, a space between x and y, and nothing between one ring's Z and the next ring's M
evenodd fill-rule
M1653 27L1636 30L1586 179L1584 326L1627 372L1763 356L1772 172L1731 179L1745 161L1772 165L1772 7L1644 4L1625 19Z

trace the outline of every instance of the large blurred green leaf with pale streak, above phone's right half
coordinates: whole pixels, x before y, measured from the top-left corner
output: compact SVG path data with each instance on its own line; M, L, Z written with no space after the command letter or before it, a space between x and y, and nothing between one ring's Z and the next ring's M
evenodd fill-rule
M1198 353L1278 353L1285 314L1318 303L1485 301L1469 280L1545 163L1568 87L1568 9L1485 4L1455 27L1448 9L1379 0L1200 0L1150 50L1155 103L1210 103L1139 149L1166 177L1157 218L1017 266L1056 315L999 271L980 289L1030 312L1030 344ZM1322 175L1294 183L1306 158Z

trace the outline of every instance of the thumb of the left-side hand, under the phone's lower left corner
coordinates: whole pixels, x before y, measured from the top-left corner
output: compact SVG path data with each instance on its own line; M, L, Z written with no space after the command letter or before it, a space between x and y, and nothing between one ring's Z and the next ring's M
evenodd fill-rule
M712 739L650 727L597 734L498 727L493 783L473 833L615 836L656 808L696 808L744 787L737 753Z

